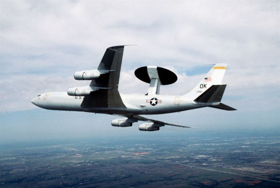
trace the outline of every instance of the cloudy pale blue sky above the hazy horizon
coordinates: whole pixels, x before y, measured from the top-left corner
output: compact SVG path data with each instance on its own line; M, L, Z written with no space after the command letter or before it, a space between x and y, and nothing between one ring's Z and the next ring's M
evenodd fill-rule
M43 92L86 86L74 80L105 52L126 46L119 90L146 93L134 71L160 66L178 76L161 94L183 95L215 63L227 63L222 103L150 118L202 130L280 126L280 3L278 1L0 1L0 141L110 135L183 134L178 128L139 132L111 127L115 117L40 109ZM197 130L191 130L197 131ZM183 129L183 132L190 130Z

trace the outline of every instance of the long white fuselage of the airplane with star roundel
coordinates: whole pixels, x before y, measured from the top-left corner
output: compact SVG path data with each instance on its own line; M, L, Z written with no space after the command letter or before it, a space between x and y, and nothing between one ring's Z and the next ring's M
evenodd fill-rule
M121 95L125 108L82 108L83 96L69 96L67 92L43 93L32 100L38 107L49 110L84 111L108 114L164 114L202 108L211 104L198 104L185 96Z

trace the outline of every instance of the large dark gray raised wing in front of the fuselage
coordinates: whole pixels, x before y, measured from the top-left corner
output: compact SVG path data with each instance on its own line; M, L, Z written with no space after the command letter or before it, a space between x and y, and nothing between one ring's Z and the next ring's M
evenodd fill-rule
M86 96L81 104L83 108L125 108L118 91L120 72L122 66L124 46L112 46L106 49L103 58L98 66L101 74L99 78L92 80L90 86L96 86L105 89L99 89Z

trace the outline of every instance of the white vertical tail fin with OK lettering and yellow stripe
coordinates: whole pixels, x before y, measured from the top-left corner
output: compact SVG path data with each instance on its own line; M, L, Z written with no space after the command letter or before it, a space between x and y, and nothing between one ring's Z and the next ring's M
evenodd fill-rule
M212 69L206 74L206 76L199 82L199 84L196 85L185 96L195 100L212 85L220 85L223 75L225 75L227 66L227 64L215 64L214 67L212 67Z

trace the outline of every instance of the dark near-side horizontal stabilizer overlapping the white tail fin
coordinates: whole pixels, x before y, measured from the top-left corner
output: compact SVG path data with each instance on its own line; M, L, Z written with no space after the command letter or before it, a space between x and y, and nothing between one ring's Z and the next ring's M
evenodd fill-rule
M202 93L195 102L198 103L217 103L221 101L223 92L226 89L227 84L223 85L212 85L204 93Z

